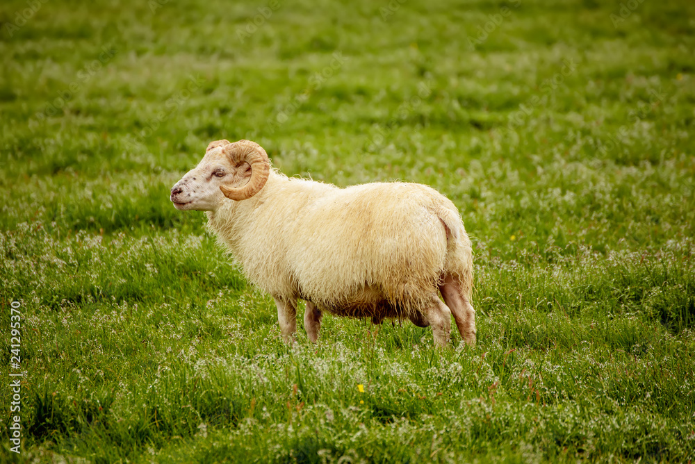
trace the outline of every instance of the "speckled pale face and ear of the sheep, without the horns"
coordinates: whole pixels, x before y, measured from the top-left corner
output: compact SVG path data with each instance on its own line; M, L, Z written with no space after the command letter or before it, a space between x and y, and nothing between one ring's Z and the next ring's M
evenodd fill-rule
M229 143L229 142L227 142ZM251 176L249 163L233 165L222 146L208 149L202 161L172 187L171 201L178 210L216 211L224 197L220 187L244 185Z

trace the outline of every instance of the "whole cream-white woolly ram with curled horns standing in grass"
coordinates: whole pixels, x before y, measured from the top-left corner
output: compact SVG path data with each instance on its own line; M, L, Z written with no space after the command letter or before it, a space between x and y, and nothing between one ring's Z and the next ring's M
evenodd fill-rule
M327 311L431 325L440 346L453 314L461 338L475 345L471 240L454 204L427 185L289 179L259 144L218 140L174 185L171 201L206 211L247 278L275 299L286 342L304 299L312 342Z

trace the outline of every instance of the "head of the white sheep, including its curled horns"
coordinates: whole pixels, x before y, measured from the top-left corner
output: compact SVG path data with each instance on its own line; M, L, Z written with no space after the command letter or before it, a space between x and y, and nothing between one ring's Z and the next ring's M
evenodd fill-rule
M214 211L225 199L253 197L269 172L270 160L259 144L215 140L200 163L172 187L170 198L179 210Z

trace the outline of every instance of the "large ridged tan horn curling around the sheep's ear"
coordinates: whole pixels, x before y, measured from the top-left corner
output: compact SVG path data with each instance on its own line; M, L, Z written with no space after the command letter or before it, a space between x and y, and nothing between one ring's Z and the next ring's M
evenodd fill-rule
M211 145L214 143L217 142ZM238 166L242 163L251 165L251 178L246 185L235 188L220 185L220 190L225 197L236 201L245 200L253 197L263 188L270 174L270 160L261 145L251 140L239 140L225 145L222 153L227 155L232 165Z

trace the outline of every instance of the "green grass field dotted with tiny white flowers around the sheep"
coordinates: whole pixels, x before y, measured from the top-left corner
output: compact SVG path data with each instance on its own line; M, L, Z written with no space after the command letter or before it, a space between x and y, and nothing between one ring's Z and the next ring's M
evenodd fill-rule
M3 387L0 461L691 462L694 18L3 1L0 374L21 410ZM288 175L452 199L477 346L330 315L311 345L302 307L286 347L269 295L168 198L220 138Z

